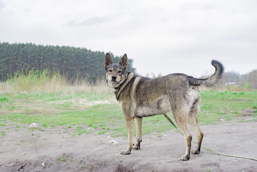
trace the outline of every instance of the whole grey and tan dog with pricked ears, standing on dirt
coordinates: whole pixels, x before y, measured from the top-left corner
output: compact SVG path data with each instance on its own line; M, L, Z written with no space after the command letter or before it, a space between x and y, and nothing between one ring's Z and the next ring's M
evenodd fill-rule
M174 119L184 134L186 154L180 160L190 158L191 140L187 121L194 129L197 145L192 154L199 154L203 132L198 124L200 110L199 86L215 87L224 75L224 66L221 62L212 60L215 73L207 79L197 79L182 73L173 73L151 79L128 72L127 55L121 58L118 64L112 62L111 56L105 56L104 67L107 84L114 89L125 116L128 131L128 147L121 154L130 154L132 148L140 149L142 142L142 118L165 114L172 111ZM136 122L136 143L133 144L134 119Z

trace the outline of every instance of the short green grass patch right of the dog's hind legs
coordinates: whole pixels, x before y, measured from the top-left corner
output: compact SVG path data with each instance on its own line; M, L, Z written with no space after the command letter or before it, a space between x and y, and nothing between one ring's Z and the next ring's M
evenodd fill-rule
M245 109L257 106L256 97L256 91L236 94L231 91L202 91L199 122L215 122L221 118L231 120L243 115Z

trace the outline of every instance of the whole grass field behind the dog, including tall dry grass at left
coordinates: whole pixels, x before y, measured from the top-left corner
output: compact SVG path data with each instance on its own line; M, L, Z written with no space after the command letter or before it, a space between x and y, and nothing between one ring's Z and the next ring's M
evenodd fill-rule
M0 83L0 125L8 128L38 122L41 131L44 127L63 125L76 127L77 135L91 133L88 127L94 128L96 134L108 131L112 137L127 135L121 107L104 81L88 84L78 79L70 84L48 71L43 74L32 71L30 75L20 74L8 83ZM256 120L257 91L203 90L200 108L200 125L230 122L237 117ZM168 115L173 119L171 113ZM172 128L163 115L143 118L142 134ZM5 131L0 133L4 135Z

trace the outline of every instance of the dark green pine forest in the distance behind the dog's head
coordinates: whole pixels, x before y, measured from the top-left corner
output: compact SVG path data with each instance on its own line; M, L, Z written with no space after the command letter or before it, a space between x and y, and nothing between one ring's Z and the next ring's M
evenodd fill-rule
M108 53L113 63L120 62L122 56ZM103 51L91 51L81 47L0 42L0 81L6 81L16 71L26 72L31 68L38 71L59 71L69 79L84 75L94 81L105 75L105 54ZM133 59L128 58L127 66L130 72L136 72Z

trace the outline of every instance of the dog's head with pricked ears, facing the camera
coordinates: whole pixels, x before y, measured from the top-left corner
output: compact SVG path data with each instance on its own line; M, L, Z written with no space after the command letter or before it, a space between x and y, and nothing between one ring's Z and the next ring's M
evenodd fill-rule
M104 67L107 83L114 89L119 88L119 86L128 78L126 54L121 58L120 63L114 64L111 56L107 53L105 56Z

